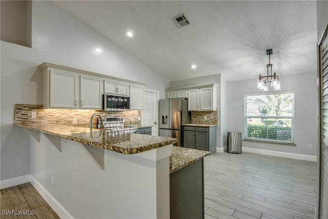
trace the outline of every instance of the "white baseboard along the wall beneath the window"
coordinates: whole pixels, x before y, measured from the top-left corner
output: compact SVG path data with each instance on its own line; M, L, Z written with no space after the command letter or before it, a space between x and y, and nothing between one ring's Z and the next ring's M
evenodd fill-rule
M255 149L255 148L244 148L244 147L241 148L241 151L242 152L257 153L257 154L264 154L264 155L271 155L271 156L280 156L280 157L292 158L292 159L297 159L297 160L317 162L317 156L311 156L311 155L286 153L286 152L279 152L279 151L269 151L269 150L262 150L262 149Z

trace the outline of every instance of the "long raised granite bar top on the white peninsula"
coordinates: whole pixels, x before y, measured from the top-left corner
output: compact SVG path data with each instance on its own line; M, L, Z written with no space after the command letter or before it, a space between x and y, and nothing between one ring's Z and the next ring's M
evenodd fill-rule
M174 144L176 138L160 137L145 134L121 134L104 129L90 129L86 127L68 126L60 124L15 124L45 134L65 138L74 142L104 148L123 154L135 154L154 148Z

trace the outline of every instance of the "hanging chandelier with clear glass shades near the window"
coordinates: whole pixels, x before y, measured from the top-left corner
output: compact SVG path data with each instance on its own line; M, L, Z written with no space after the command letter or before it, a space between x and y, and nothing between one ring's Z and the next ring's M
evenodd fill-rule
M278 75L276 75L276 72L272 74L272 64L270 62L270 55L272 55L272 49L267 50L267 55L269 55L269 63L267 65L267 75L262 76L260 74L259 79L257 81L257 88L259 90L268 91L269 90L268 84L271 83L271 87L273 87L274 90L280 90L279 77ZM270 74L269 74L269 68L270 68Z

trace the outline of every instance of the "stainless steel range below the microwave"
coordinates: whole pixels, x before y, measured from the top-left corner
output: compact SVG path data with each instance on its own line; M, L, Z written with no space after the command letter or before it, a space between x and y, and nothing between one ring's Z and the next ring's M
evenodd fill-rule
M124 126L124 118L105 116L102 120L98 117L97 128L110 131L119 131L120 133L137 133L137 127Z

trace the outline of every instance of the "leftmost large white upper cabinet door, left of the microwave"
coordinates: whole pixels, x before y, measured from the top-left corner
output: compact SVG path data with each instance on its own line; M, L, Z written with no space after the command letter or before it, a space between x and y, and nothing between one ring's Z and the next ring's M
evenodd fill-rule
M54 108L77 108L78 74L50 69L49 105Z

